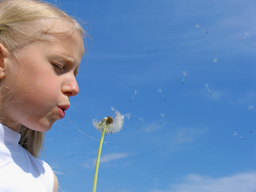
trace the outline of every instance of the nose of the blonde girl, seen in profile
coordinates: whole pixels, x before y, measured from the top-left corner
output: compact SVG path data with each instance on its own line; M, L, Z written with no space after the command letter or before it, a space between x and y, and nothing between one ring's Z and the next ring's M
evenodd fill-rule
M62 85L61 92L68 97L76 96L79 93L76 77L73 77L69 81L65 82Z

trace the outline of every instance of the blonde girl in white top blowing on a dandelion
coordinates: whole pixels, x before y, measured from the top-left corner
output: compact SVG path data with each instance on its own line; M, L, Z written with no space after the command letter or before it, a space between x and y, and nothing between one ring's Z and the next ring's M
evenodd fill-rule
M38 159L44 132L77 95L83 28L38 0L0 1L0 191L58 191Z

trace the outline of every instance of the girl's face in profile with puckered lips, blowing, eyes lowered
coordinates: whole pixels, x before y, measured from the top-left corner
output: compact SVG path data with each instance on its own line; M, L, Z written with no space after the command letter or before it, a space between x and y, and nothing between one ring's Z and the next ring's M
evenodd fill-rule
M35 42L20 52L21 60L4 53L0 119L15 131L24 125L47 131L65 116L69 97L77 95L76 75L84 54L78 33L51 42Z

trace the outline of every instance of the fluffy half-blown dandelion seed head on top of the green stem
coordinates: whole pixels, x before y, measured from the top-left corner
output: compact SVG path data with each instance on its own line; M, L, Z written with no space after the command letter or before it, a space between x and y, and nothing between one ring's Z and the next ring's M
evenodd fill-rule
M117 112L115 118L111 116L102 118L101 121L93 120L93 126L99 131L105 130L107 133L116 133L121 131L124 125L124 116L120 112Z

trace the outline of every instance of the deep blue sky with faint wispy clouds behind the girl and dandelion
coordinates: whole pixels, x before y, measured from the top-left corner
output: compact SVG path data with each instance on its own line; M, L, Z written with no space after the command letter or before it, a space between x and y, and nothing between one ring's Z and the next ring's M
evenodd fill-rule
M131 118L104 138L97 191L255 192L255 1L51 2L92 36L79 95L46 133L60 191L92 191L92 120L114 107Z

